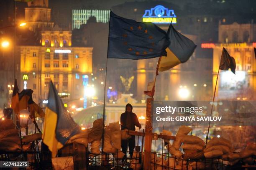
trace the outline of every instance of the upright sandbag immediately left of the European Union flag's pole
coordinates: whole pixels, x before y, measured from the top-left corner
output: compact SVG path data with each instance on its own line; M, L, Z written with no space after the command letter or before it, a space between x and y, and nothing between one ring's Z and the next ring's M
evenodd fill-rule
M97 119L93 122L92 130L88 134L88 142L101 140L103 132L103 119Z

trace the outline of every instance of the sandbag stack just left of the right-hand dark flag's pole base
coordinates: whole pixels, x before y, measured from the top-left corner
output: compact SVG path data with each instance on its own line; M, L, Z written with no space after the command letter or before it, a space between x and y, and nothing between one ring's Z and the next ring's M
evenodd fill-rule
M182 137L182 148L184 151L184 160L202 159L204 157L205 142L200 137L187 135Z

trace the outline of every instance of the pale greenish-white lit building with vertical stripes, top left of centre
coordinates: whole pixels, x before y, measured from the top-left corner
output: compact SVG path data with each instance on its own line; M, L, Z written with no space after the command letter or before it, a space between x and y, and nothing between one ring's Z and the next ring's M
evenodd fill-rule
M72 10L72 29L79 29L90 17L95 17L97 23L108 23L110 10Z

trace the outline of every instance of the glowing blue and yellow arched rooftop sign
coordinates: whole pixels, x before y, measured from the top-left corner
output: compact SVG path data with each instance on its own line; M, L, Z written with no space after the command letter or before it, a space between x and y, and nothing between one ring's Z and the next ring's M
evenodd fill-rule
M150 10L145 10L143 15L143 22L152 22L159 24L177 23L176 15L174 10L169 10L162 5L156 5Z

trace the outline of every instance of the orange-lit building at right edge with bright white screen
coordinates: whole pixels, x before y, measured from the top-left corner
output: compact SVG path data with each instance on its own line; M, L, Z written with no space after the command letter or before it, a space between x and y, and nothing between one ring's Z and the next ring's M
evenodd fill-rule
M219 25L218 38L218 43L212 47L214 75L212 84L215 84L223 47L236 60L236 75L231 71L220 71L217 98L255 100L256 61L253 48L256 47L256 24L252 22Z

